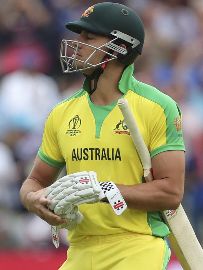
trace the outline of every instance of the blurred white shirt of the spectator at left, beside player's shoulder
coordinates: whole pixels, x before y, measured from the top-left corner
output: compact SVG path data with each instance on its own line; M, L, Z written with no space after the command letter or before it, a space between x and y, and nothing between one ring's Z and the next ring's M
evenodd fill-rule
M2 114L7 118L5 130L7 126L19 125L24 129L42 131L49 112L59 101L56 82L35 68L24 67L2 78L0 102Z

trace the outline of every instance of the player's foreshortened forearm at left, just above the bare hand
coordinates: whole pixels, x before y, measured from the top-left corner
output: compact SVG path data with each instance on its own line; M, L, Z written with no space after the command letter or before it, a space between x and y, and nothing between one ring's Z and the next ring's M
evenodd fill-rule
M32 192L36 192L43 188L45 188L45 186L37 179L28 178L24 181L20 189L20 199L27 210L29 210L27 197L31 195Z

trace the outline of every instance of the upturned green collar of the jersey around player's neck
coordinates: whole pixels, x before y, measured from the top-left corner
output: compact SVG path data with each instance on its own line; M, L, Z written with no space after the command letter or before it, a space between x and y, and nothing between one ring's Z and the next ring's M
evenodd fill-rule
M134 70L134 65L131 64L126 67L121 76L121 80L118 83L119 90L125 94L129 89L132 89L132 74ZM89 92L90 91L90 80L87 78L84 80L82 88Z

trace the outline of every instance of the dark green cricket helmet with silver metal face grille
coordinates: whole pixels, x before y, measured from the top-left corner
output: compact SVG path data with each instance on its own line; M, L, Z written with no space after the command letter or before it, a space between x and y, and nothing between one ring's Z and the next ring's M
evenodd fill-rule
M81 33L81 30L86 30L101 35L112 36L112 40L98 48L91 46L95 48L94 52L97 50L103 51L102 47L104 46L109 49L107 52L103 51L106 55L102 61L96 65L91 65L88 62L94 53L91 54L86 61L76 59L79 43L87 46L90 45L74 41L77 46L73 47L68 44L73 42L72 40L62 40L60 60L64 73L82 71L92 67L101 67L103 64L115 58L124 65L131 65L135 62L137 57L141 55L145 36L143 24L136 12L122 4L104 2L92 5L82 13L78 21L68 22L66 27L78 34ZM126 44L126 49L119 46L121 43ZM67 55L68 48L70 47L74 49L72 56ZM114 51L118 52L116 56L113 55ZM82 69L77 69L76 61L84 63ZM72 62L75 62L74 68Z

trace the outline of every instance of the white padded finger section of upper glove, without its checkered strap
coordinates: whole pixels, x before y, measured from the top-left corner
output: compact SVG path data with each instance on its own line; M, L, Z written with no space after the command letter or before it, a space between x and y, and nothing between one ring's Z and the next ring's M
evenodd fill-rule
M77 172L58 179L47 188L45 196L52 201L49 208L57 215L76 213L76 205L96 203L104 197L94 171Z

